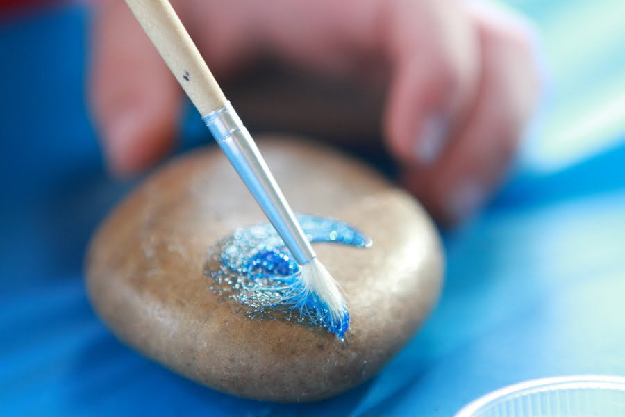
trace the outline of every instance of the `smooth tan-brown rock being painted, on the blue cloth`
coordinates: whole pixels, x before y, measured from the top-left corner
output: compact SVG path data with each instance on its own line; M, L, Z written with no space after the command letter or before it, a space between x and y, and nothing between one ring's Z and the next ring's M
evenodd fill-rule
M210 290L208 248L267 222L216 147L169 163L103 222L88 293L117 337L176 373L247 398L319 400L372 377L422 324L440 293L440 240L415 199L369 167L294 138L259 143L294 211L339 218L374 241L315 244L351 314L345 343L251 320Z

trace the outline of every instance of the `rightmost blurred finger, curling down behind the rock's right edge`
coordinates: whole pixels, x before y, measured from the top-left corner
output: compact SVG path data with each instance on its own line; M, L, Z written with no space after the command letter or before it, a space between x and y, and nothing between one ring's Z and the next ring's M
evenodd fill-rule
M476 22L481 83L466 122L438 163L404 174L407 186L448 223L474 213L501 182L538 91L529 38L499 19Z

